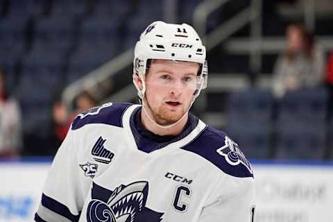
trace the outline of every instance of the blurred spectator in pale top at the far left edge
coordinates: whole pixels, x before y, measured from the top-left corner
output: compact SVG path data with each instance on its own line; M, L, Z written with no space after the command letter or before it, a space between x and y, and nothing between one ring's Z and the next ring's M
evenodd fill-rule
M15 157L22 148L21 114L17 100L8 96L6 74L0 69L0 157Z

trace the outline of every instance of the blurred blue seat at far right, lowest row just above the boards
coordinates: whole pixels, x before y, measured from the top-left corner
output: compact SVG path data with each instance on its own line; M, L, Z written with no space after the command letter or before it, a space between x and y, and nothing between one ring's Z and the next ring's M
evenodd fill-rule
M278 159L322 159L325 152L326 129L323 124L295 126L286 124L278 128Z

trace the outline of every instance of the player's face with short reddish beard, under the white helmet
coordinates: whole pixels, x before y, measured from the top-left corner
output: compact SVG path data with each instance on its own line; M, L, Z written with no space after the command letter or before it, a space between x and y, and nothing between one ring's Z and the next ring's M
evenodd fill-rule
M162 126L176 123L191 105L199 65L195 62L153 60L146 74L144 104Z

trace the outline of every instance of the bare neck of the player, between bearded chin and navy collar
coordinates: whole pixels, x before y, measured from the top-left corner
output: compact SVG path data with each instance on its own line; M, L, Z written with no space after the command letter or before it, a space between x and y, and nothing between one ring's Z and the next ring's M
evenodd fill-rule
M148 112L148 110L147 110ZM157 126L157 123L153 123L149 117L147 117L146 112L141 112L141 121L142 125L146 130L151 131L155 135L165 136L165 135L179 135L182 133L183 128L187 123L187 119L189 118L189 114L187 113L181 121L179 121L175 126L171 126L169 128L162 128Z

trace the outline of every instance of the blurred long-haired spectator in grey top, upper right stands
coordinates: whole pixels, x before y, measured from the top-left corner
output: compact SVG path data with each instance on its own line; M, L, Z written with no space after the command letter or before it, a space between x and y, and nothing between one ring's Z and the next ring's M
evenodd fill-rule
M281 98L288 90L316 87L324 79L325 56L314 35L302 24L287 28L287 48L273 70L273 93Z

